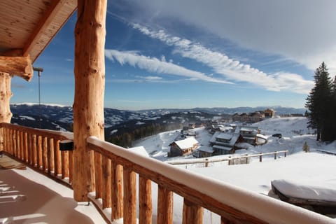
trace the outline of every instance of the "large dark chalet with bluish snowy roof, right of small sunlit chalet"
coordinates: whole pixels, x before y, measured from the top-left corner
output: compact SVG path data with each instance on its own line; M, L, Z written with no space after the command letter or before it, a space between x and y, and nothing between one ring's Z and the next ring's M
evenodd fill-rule
M225 155L235 153L237 149L235 144L242 141L241 134L216 132L210 139L210 145L214 150L213 155Z

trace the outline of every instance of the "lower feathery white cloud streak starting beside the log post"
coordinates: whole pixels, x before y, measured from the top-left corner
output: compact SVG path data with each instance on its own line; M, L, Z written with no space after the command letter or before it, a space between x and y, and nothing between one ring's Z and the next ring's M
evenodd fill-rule
M152 73L164 73L175 76L184 76L192 80L204 80L212 83L232 84L225 80L219 80L209 77L199 71L186 69L183 66L173 64L171 62L163 62L156 57L146 57L139 55L137 52L105 50L105 56L112 61L117 61L120 64L130 64L130 66L138 67ZM152 79L153 80L153 79Z

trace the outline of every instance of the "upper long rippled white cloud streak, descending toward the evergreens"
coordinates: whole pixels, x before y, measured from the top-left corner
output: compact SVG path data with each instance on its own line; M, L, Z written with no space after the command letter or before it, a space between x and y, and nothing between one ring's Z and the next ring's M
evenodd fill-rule
M200 43L193 43L186 38L171 36L163 30L154 31L139 24L133 24L133 27L151 38L158 39L174 47L174 53L209 66L215 73L223 75L227 80L252 83L266 90L286 90L302 94L307 94L314 85L311 80L304 80L302 76L295 73L279 72L267 74L251 67L249 64L231 59L222 52L210 50Z

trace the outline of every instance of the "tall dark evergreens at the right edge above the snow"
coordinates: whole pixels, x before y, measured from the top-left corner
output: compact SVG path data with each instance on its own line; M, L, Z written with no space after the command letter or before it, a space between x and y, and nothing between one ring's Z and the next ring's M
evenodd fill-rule
M315 85L306 99L308 127L316 129L316 141L336 140L336 76L331 79L324 62L316 69Z

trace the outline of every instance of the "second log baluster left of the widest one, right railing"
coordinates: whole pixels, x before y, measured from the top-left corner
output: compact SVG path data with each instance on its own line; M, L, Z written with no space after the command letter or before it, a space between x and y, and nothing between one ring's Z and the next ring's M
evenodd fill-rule
M151 224L152 213L152 181L139 175L139 224Z

